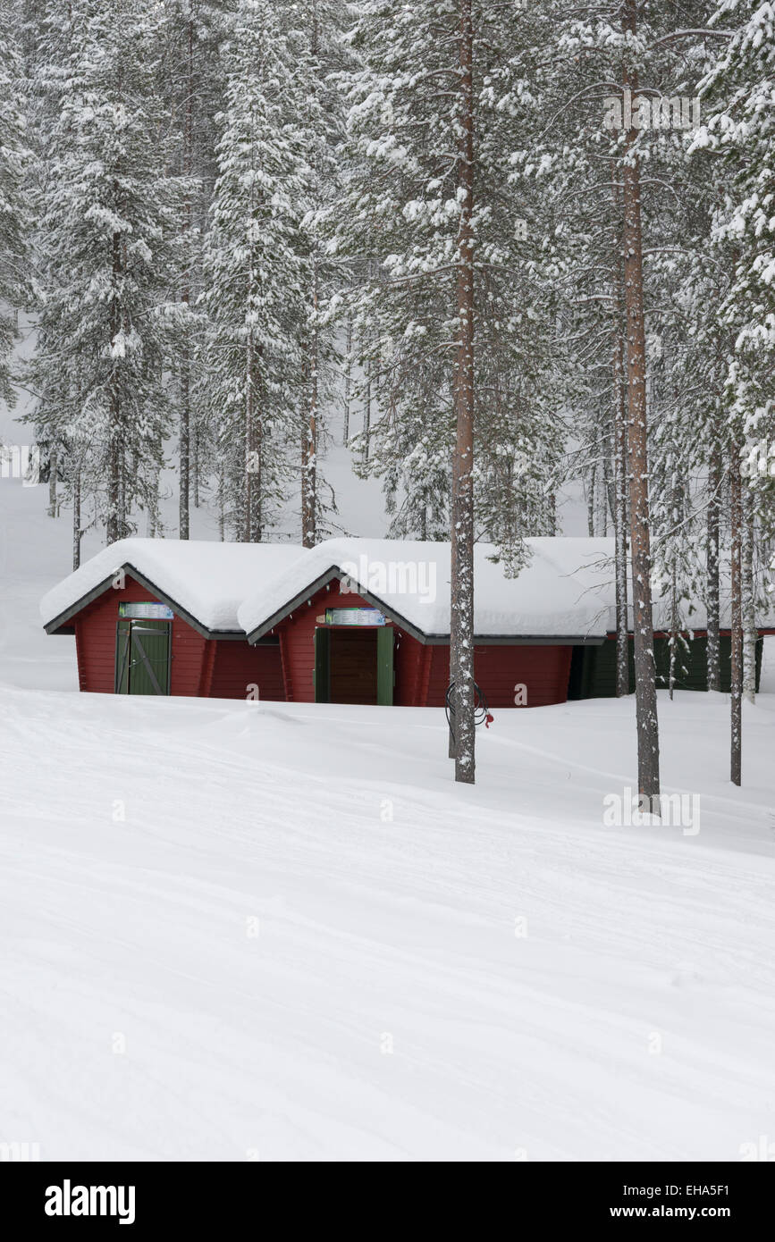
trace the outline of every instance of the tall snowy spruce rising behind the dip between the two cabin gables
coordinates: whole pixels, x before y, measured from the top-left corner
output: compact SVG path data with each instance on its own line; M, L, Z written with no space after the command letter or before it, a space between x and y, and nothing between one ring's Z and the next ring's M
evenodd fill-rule
M302 216L307 57L268 0L236 0L222 47L219 176L204 256L199 401L219 442L237 539L260 542L284 499L298 432L306 322Z

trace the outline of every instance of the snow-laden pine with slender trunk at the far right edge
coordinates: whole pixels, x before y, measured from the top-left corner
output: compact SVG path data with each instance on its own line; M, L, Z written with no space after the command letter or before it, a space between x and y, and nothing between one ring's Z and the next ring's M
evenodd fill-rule
M727 468L732 493L732 781L741 780L741 699L749 694L754 653L754 498L740 478L746 442L775 430L771 399L775 358L775 14L755 0L723 0L713 26L729 31L702 83L704 124L694 147L720 164L724 194L717 201L717 253L732 257L732 279L719 318L734 338L727 370ZM756 455L759 456L759 455ZM766 472L764 472L766 473ZM753 479L756 487L756 481ZM765 486L766 487L766 486ZM766 488L769 491L769 488ZM759 493L761 488L758 488ZM744 496L745 493L745 496ZM769 517L769 507L765 505ZM766 518L761 514L764 523ZM744 642L744 632L748 641ZM748 652L744 658L744 648ZM748 677L745 666L748 664Z

